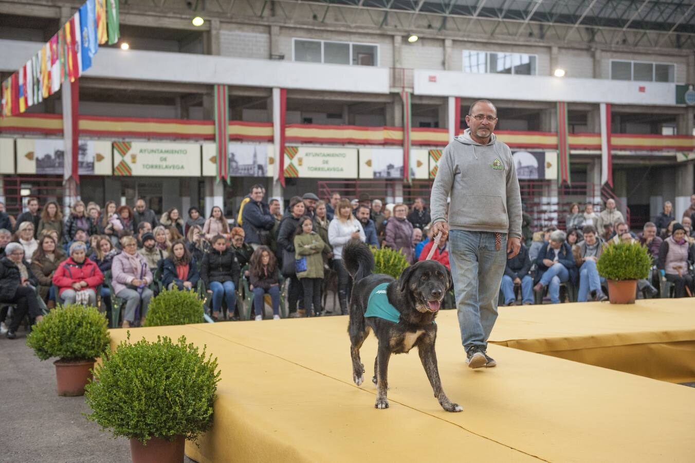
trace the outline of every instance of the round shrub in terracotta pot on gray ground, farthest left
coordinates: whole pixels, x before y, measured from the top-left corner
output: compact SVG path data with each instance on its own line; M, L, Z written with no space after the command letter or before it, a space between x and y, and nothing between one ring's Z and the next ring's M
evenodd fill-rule
M36 357L58 357L56 381L59 396L81 396L92 377L95 357L108 349L106 318L96 307L58 306L33 327L26 344Z

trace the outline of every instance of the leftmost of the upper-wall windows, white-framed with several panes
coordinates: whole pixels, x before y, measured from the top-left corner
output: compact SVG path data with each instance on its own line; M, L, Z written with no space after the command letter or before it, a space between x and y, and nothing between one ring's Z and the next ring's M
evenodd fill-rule
M379 65L379 45L293 39L294 60L356 66Z

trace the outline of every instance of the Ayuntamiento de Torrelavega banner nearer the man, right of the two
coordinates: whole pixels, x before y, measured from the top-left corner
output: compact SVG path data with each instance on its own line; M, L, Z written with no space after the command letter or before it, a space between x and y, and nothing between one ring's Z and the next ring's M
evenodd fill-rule
M357 148L285 147L285 177L356 179Z

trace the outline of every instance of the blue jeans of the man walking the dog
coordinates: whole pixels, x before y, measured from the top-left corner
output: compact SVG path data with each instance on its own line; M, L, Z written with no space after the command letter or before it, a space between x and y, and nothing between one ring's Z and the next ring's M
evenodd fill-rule
M487 348L497 320L500 282L507 265L507 235L502 234L500 250L496 250L494 233L451 230L449 263L461 343L466 351L473 346Z

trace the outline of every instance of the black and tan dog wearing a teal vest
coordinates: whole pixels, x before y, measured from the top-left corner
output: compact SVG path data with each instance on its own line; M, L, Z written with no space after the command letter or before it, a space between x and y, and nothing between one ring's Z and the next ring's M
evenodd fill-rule
M441 300L451 286L449 271L439 262L422 261L403 270L398 282L389 275L372 274L372 252L358 240L352 240L343 247L343 264L354 280L350 299L350 325L347 327L354 383L359 386L364 380L364 366L360 361L359 349L372 330L379 341L372 378L377 385L376 408L389 407L386 391L389 388L387 373L391 354L401 354L417 347L427 378L432 384L434 397L447 412L461 412L463 408L452 403L441 387L434 352L434 318ZM372 305L366 314L370 296ZM390 305L390 314L386 318L373 316L377 313L376 304Z

